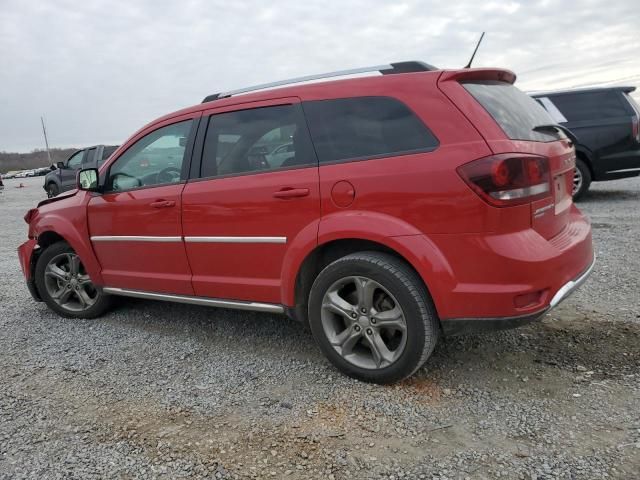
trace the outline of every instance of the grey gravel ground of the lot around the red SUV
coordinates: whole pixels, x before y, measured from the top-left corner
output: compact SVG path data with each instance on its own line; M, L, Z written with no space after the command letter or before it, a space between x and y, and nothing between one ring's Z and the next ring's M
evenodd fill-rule
M444 340L410 380L340 375L280 316L123 301L70 321L16 247L41 179L0 194L0 478L638 478L640 179L581 208L598 263L544 321Z

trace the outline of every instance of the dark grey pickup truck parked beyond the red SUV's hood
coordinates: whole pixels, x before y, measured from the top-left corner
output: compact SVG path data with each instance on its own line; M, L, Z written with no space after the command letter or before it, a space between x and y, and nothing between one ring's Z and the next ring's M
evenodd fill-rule
M60 192L76 188L78 170L100 167L116 148L118 148L117 145L95 145L78 150L64 162L58 162L56 164L58 168L44 177L42 188L47 192L47 197L55 197Z

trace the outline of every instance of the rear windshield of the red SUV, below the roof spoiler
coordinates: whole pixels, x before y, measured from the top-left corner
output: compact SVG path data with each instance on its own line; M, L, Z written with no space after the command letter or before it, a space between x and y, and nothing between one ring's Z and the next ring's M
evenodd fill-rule
M462 86L482 105L512 140L552 142L564 138L534 127L556 123L538 102L510 83L494 80L463 82Z

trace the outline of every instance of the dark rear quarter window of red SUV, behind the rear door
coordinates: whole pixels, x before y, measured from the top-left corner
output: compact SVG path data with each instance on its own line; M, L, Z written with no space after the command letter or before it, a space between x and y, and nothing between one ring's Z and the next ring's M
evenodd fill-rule
M357 97L304 103L321 163L432 150L438 140L403 103Z

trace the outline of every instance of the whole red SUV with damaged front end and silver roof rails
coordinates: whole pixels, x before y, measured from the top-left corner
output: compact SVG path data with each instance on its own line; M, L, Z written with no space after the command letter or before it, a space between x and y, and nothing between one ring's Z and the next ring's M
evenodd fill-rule
M113 295L286 313L378 383L441 334L542 316L594 261L571 139L507 70L374 70L212 95L142 128L27 213L31 293L76 318Z

